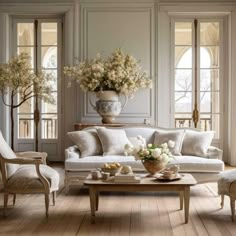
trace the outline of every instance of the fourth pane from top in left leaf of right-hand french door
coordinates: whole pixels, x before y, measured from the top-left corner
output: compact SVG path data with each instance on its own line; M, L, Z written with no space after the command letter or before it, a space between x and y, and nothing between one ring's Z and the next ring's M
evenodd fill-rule
M192 92L175 92L175 112L192 112Z

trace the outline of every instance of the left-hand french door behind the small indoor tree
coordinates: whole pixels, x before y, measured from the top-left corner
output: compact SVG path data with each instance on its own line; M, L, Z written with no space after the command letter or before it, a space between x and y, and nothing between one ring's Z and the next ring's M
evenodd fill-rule
M56 160L60 153L61 26L60 19L13 20L14 54L28 53L32 70L36 73L41 70L55 77L51 96L56 101L49 104L32 98L17 109L15 146L18 151L46 151L49 160Z

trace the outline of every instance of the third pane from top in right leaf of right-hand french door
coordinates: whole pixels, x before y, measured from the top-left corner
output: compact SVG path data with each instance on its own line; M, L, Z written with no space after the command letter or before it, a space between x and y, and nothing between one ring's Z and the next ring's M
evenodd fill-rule
M219 70L200 70L200 90L204 91L219 91Z

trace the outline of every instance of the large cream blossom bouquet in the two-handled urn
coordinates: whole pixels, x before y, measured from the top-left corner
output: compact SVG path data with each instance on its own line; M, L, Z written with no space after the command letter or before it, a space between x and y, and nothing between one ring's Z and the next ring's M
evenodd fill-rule
M152 84L147 73L140 72L139 62L121 49L116 49L107 60L97 54L93 60L66 66L64 74L79 83L85 92L113 90L132 97L137 90L151 88Z

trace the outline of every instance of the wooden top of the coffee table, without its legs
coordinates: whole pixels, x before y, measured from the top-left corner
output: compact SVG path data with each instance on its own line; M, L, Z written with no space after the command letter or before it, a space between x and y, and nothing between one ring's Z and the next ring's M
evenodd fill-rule
M181 179L178 180L171 180L171 181L167 181L167 180L157 180L156 177L147 177L145 175L138 175L141 177L141 181L139 183L117 183L114 182L112 179L108 179L106 181L98 179L98 180L93 180L91 179L91 176L89 175L87 177L87 179L84 180L84 184L85 185L188 185L188 186L192 186L197 184L196 179L191 175L191 174L180 174L181 175Z

